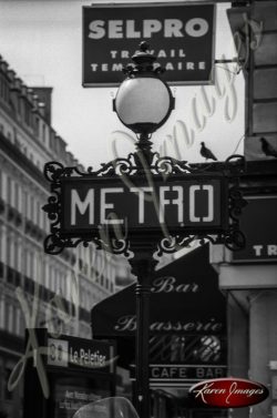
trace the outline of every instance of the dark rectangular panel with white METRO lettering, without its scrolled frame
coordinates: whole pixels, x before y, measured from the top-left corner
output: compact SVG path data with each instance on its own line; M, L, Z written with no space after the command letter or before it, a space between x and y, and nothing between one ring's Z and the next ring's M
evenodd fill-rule
M227 225L227 186L222 175L141 179L63 177L61 235L80 236L100 227L126 232L195 233Z

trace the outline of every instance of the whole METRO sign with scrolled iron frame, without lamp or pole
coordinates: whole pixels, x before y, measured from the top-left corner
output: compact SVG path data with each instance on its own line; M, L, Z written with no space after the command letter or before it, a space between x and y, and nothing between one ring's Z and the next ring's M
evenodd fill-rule
M234 155L214 172L186 161L144 151L102 164L99 171L60 162L44 166L51 195L42 207L50 235L47 254L90 242L98 249L130 255L130 248L172 253L193 239L224 244L230 251L245 245L238 217L245 205L238 179L244 159ZM233 161L235 160L235 161ZM132 251L133 251L132 249Z

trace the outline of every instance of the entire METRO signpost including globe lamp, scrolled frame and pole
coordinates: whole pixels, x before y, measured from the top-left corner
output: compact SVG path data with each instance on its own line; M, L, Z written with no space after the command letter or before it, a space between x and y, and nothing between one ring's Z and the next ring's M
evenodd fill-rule
M132 59L135 65L126 69L129 75L114 109L137 134L136 150L126 159L102 164L96 172L81 172L59 162L45 164L52 195L43 206L51 221L44 251L59 254L65 247L94 242L99 249L129 257L137 277L135 406L140 418L150 418L148 299L157 264L154 253L173 253L205 238L230 249L244 246L238 223L245 204L238 188L244 159L233 155L211 173L154 153L151 134L168 119L174 100L158 75L162 69L154 69L155 57L145 42Z

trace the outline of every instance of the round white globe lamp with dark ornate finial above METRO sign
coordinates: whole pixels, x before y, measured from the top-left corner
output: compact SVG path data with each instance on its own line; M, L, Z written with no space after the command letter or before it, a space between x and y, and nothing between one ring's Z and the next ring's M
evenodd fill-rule
M129 64L123 70L127 77L117 90L113 109L126 128L145 137L167 121L174 109L174 98L160 78L164 70L154 64L156 57L146 42L140 44L140 51L132 60L135 65Z

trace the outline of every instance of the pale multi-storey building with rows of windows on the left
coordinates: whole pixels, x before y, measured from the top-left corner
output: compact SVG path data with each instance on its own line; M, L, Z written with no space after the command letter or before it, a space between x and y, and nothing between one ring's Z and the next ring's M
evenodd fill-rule
M43 166L78 165L51 125L50 88L29 89L0 59L0 417L19 417L25 328L91 338L90 309L115 292L117 261L94 246L43 252ZM44 101L42 101L42 99ZM12 389L12 390L11 390Z

